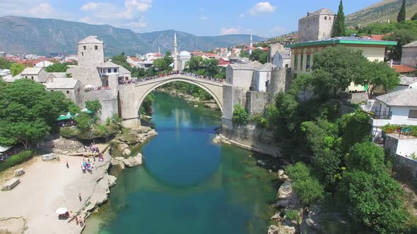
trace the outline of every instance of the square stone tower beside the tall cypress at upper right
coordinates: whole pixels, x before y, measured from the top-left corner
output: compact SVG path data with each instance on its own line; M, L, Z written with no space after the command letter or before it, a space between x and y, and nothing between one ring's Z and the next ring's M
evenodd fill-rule
M307 16L298 20L298 41L308 42L331 37L336 15L328 8L308 12Z

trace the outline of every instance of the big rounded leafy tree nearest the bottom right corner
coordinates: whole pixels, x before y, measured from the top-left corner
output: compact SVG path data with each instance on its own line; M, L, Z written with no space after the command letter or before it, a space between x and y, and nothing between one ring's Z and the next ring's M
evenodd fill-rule
M378 233L402 233L405 228L404 190L384 171L348 171L341 180L339 197L353 220Z

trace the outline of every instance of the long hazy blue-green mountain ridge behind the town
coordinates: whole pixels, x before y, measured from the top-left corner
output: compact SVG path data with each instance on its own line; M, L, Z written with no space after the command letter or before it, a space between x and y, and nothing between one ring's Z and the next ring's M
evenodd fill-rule
M75 54L76 44L88 35L96 35L105 42L107 56L146 53L173 49L174 30L135 33L132 30L110 25L89 25L66 20L26 18L17 16L0 17L0 51L10 54ZM249 35L223 35L197 37L186 32L177 32L181 50L209 50L249 44ZM266 38L254 36L254 42Z

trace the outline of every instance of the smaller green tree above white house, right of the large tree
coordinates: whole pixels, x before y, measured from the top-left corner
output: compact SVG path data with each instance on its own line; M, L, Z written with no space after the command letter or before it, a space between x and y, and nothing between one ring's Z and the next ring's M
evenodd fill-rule
M368 94L373 97L377 87L382 86L384 91L392 90L399 84L399 73L387 66L383 61L373 61L364 63L363 75L357 77L356 84L368 86Z

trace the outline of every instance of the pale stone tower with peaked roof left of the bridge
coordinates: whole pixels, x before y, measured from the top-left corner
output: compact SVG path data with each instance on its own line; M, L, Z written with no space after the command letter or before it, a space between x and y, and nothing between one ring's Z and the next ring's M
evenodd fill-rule
M88 36L78 42L78 66L96 67L104 63L104 45L97 36Z

